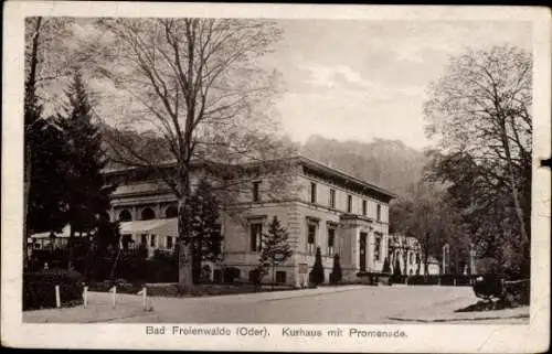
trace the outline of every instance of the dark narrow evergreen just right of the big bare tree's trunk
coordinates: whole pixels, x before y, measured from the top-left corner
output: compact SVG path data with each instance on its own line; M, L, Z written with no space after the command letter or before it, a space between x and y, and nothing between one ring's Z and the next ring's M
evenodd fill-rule
M193 282L201 278L203 261L219 261L222 256L220 203L212 185L201 179L188 202L189 225L192 238Z

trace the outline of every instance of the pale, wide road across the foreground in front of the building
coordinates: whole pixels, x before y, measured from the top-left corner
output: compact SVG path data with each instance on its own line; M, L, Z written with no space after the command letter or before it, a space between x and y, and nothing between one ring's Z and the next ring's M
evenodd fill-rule
M454 310L477 298L468 287L350 286L151 301L153 311L144 312L139 296L120 294L113 309L108 293L91 293L88 309L32 311L25 322L420 323L468 319Z

